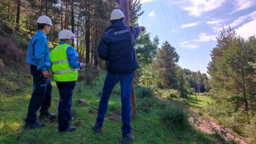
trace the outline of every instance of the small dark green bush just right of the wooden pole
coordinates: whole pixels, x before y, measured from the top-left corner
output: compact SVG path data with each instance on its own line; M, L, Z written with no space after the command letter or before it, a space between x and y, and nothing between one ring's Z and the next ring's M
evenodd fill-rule
M154 92L151 88L145 87L145 86L136 86L135 90L136 97L140 98L152 98L154 97Z

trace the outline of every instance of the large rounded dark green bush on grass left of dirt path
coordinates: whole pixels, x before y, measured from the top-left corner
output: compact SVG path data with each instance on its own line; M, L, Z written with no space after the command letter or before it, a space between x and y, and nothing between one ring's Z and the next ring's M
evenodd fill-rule
M186 127L188 125L188 112L183 104L177 100L166 104L163 111L160 111L160 118L169 128Z

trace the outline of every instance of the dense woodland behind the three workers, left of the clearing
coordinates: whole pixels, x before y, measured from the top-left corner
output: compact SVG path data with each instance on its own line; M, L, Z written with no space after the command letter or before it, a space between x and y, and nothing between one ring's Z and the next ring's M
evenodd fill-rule
M13 26L16 31L32 33L37 30L36 19L40 15L48 15L52 19L51 33L47 36L51 48L58 44L58 32L69 29L76 36L74 47L79 52L81 61L93 67L104 69L106 63L97 56L97 45L109 22L111 11L118 8L118 1L1 1L1 20ZM140 0L129 1L131 26L138 26L138 18L143 15ZM179 90L182 97L189 92L209 92L208 77L200 72L191 72L177 65L179 54L170 42L159 47L159 38L150 38L150 33L142 33L136 42L135 49L140 63L138 79L141 83L157 88ZM152 65L161 77L157 81L150 80L147 74ZM148 77L149 75L149 77ZM157 76L153 74L154 76ZM196 82L195 82L196 81ZM193 89L193 90L192 90Z

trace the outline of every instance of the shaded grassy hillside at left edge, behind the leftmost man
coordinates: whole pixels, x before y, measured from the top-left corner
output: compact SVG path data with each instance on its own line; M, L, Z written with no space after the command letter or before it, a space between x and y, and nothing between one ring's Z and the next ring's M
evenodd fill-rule
M13 29L0 19L0 92L8 95L22 92L31 84L25 63L29 33Z

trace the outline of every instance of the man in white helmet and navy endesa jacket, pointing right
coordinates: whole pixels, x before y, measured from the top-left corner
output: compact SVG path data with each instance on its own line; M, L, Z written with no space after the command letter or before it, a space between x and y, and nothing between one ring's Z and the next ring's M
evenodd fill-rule
M100 97L98 116L93 130L102 133L102 125L108 108L109 96L118 81L121 85L122 102L122 143L135 140L131 133L131 90L133 72L138 68L138 60L134 51L134 44L140 31L144 27L132 28L125 26L124 13L113 10L111 13L111 26L104 31L97 49L100 58L109 61L108 74L104 81Z

